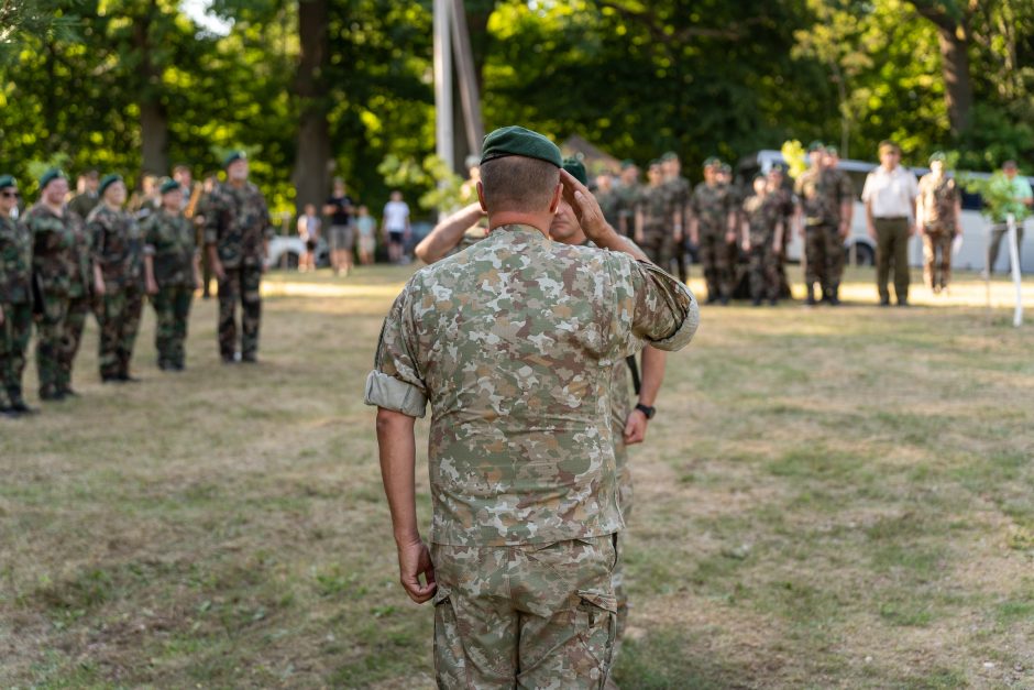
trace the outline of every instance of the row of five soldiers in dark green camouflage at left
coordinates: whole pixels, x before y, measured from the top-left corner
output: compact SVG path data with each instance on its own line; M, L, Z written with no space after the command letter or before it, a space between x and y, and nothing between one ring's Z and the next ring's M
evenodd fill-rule
M42 175L38 200L15 218L18 183L0 176L0 414L35 412L22 392L33 325L42 401L78 395L73 365L91 311L100 326L101 381L138 381L130 362L144 295L157 319L158 368L183 371L190 304L201 287L196 227L204 228L219 281L220 355L227 363L256 361L261 276L273 228L265 199L248 182L245 154L233 152L224 163L227 182L194 209L194 218L185 200L198 199L176 179L161 183L157 207L134 213L125 208L121 175L100 178L95 202L87 205L82 194L66 201L68 179L57 168Z

